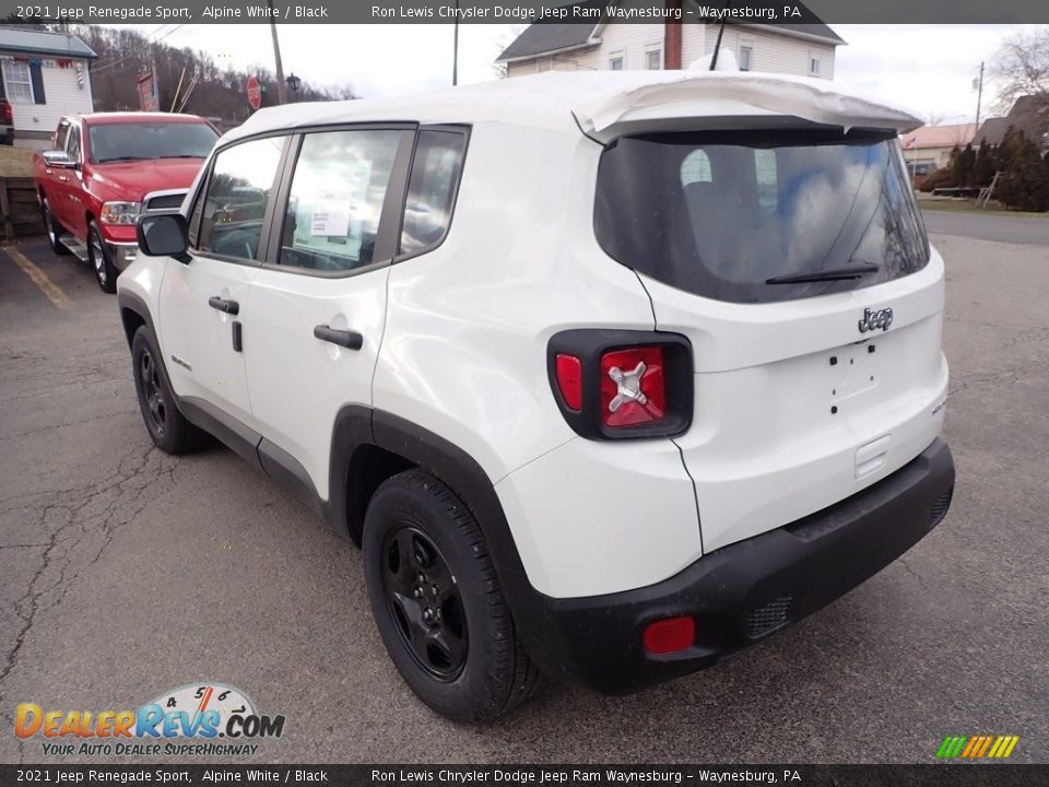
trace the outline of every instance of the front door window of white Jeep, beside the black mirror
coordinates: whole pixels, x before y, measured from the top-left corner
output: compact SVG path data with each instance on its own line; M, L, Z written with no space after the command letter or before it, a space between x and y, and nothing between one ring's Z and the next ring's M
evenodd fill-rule
M262 219L286 137L267 137L227 148L215 156L204 198L191 223L201 251L254 260L259 256Z

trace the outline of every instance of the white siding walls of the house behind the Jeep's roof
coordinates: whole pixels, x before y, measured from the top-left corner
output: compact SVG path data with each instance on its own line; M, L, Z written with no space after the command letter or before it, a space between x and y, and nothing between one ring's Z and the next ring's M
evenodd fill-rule
M594 35L601 38L600 46L579 49L552 57L550 67L558 71L596 71L609 68L613 57L623 56L623 67L639 70L645 68L649 49L663 49L663 25L651 24L611 24L599 27ZM682 25L682 68L688 68L696 60L706 60L714 51L718 39L717 25ZM834 78L834 51L829 44L821 44L803 38L778 35L755 26L726 26L721 42L723 49L730 49L739 60L740 42L751 46L751 70L773 71L777 73L809 75L809 60L820 58L820 77ZM665 59L665 52L663 52ZM545 63L544 63L545 67ZM508 63L507 75L519 77L535 73L535 60Z

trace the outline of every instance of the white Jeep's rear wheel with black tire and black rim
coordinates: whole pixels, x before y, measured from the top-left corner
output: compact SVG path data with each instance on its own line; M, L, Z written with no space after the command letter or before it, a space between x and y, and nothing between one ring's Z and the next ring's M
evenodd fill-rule
M363 547L379 635L424 703L457 721L485 721L531 696L539 672L455 492L422 470L388 479L368 504Z

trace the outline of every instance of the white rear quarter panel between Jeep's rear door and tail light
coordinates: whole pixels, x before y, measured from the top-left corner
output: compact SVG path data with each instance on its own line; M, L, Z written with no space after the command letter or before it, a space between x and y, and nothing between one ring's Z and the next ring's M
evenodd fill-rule
M503 150L542 151L550 166L531 155L485 166ZM451 441L493 483L575 437L551 393L553 333L652 328L636 274L569 230L592 212L598 152L578 134L474 127L447 238L390 271L375 407ZM590 184L589 201L573 183Z

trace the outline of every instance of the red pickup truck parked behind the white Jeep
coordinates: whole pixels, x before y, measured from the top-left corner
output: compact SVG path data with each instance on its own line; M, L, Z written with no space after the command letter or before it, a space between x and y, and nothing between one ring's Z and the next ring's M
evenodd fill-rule
M141 213L177 209L219 133L201 117L94 113L62 118L51 150L33 156L37 198L56 254L91 265L116 292L138 249Z

